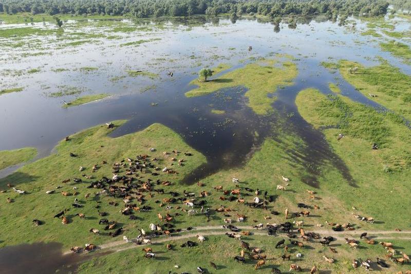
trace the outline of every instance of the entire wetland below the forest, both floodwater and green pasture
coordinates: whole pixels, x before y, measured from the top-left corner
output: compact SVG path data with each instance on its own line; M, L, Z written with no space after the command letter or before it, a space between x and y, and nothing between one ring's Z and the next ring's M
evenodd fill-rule
M307 272L313 265L321 273L363 271L351 262L386 251L363 240L351 250L344 236L358 239L360 231L411 253L409 15L350 16L340 24L323 15L301 16L293 17L295 27L252 15L59 15L60 28L47 15L31 23L25 16L0 13L0 268L6 272L24 272L32 263L44 265L32 273L194 273L199 265L209 273L253 273L255 261L247 255L245 265L232 259L241 248L223 234L225 218L252 231L242 240L272 258L260 272L286 272L291 263ZM198 80L202 68L213 71L208 81ZM117 180L116 174L124 177ZM103 189L117 189L126 176L138 185L128 190L142 196L123 202L118 193L97 194L102 189L92 186L113 177ZM215 186L239 188L241 195L224 196ZM159 188L166 192L155 192ZM183 190L195 193L195 202L207 200L209 220L201 206L191 216L188 206L170 202L169 193ZM252 202L255 190L261 199L267 192L267 208L243 204ZM80 206L73 208L75 198ZM119 213L129 203L137 203L135 220ZM309 217L298 215L297 203L310 205ZM217 211L221 206L230 216ZM62 210L68 224L53 217ZM97 225L100 211L122 228L117 238ZM148 225L163 224L158 214L167 213L182 230L152 238L155 260L144 258L145 246L122 241L123 235L136 239L141 228L148 234ZM236 214L245 221L235 222ZM32 225L33 219L41 225ZM283 249L274 246L285 234L268 236L252 227L285 220L333 235L338 253L311 239L304 248L290 246L286 253L293 259L283 262ZM353 230L336 232L329 222L349 223ZM197 233L207 241L180 247L189 239L198 242ZM101 250L64 255L86 243ZM30 255L48 249L53 252L44 257ZM25 263L16 266L19 260ZM386 261L387 271L377 264L373 270L410 268L409 262Z

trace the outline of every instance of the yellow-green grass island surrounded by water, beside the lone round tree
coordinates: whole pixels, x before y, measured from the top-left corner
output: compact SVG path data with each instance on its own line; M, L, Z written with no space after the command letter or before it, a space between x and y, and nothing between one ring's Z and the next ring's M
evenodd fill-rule
M216 69L218 71L218 68L213 70ZM292 62L280 63L274 59L261 59L207 82L195 79L191 84L198 87L185 93L185 96L195 97L216 92L221 88L245 86L248 88L248 105L255 113L267 115L273 111L271 104L275 101L275 97L269 98L268 94L274 93L279 87L291 85L296 75L297 68Z

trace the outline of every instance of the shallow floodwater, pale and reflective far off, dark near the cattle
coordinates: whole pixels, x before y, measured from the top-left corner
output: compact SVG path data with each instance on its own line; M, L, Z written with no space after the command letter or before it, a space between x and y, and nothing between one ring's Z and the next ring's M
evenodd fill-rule
M65 32L104 33L110 27L97 28L96 23L98 21L67 22ZM153 30L110 33L119 38L96 38L91 39L95 41L93 43L63 48L62 44L73 40L67 40L69 36L66 36L66 40L60 41L62 36L53 34L31 38L33 42L21 48L2 48L4 55L0 60L0 71L3 81L0 88L25 86L25 89L0 97L3 112L0 126L4 129L0 131L0 150L31 146L38 148L40 157L43 157L65 136L99 123L128 119L112 134L116 137L159 122L171 127L194 149L207 156L208 164L184 180L193 183L218 169L241 165L265 137L275 138L276 133L272 130L275 124L305 141L306 145L304 148L301 146L302 151L298 154L310 155L302 163L312 170L312 176L305 180L307 184L317 187L316 167L333 159L347 181L354 185L344 164L331 152L321 132L313 130L298 115L295 97L307 87L329 94L328 83L338 82L343 95L380 107L345 82L338 72L331 74L320 66L322 61L349 59L374 65L377 60L373 58L381 56L405 73L411 71L410 66L381 51L378 41L360 35L358 29L365 26L360 21L356 21L356 27L352 28L352 23L338 26L319 17L311 22L305 20L305 24L299 24L296 29L289 29L283 24L279 32L274 31L272 24L256 20L239 20L233 24L227 19L208 21L202 17L196 21L161 24L147 21L113 23L137 24ZM53 28L50 24L42 27ZM119 47L119 44L152 38L161 40L138 47ZM247 51L248 45L253 46L251 52ZM50 55L22 55L39 51ZM273 104L275 111L272 115L255 115L247 107L243 96L246 90L241 87L197 98L184 96L193 88L189 83L196 78L197 71L206 65L231 63L236 68L250 62L249 58L267 57L274 53L291 54L298 66L298 76L293 85L272 95L278 98ZM98 67L98 70L79 70L86 66ZM41 72L19 75L15 71L30 68L40 68ZM53 72L52 69L56 68L68 70ZM13 71L7 72L7 69ZM126 69L155 72L159 78L128 77ZM174 77L166 77L167 71L174 71ZM123 78L110 81L113 77ZM153 84L156 87L141 92ZM78 107L62 108L62 100L76 97L48 96L62 85L82 88L84 92L81 95L109 93L113 96ZM158 105L152 106L152 103ZM212 114L211 109L222 109L226 113ZM294 116L288 117L289 113L294 113ZM13 170L3 171L0 175L5 176Z

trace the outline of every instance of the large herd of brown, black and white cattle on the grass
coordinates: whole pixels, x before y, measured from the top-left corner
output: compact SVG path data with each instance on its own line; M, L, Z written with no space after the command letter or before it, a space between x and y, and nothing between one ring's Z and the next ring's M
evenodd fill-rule
M69 138L66 138L69 141ZM151 152L156 151L155 149L150 149ZM176 150L172 151L171 153L163 152L163 156L170 160L170 162L176 163L179 166L184 165L185 160L177 157L181 156L182 154ZM184 153L186 157L192 156L191 153ZM71 157L78 157L74 153L70 153ZM161 173L168 173L174 174L176 173L171 168L159 168L158 167L159 158L150 158L148 155L138 155L135 159L126 158L121 162L115 163L112 166L113 169L113 176L102 177L99 180L94 180L90 182L86 187L86 194L84 196L84 200L80 203L77 190L80 188L80 183L83 183L81 178L67 178L65 179L62 184L69 185L70 182L76 183L72 187L73 191L61 191L61 194L65 197L69 196L76 196L74 199L74 203L71 204L73 209L77 211L74 215L79 218L86 218L86 213L81 212L82 208L84 207L84 203L88 203L94 200L96 203L96 215L100 216L100 220L96 223L96 227L90 228L89 233L94 233L98 235L107 235L111 237L116 237L120 234L123 234L124 230L122 227L118 226L117 222L114 220L108 220L107 212L102 211L103 202L100 201L100 198L103 196L108 196L113 199L109 199L108 206L119 206L119 204L124 204L124 207L119 211L119 214L126 215L129 220L138 220L143 221L144 218L141 217L140 213L144 212L152 212L154 210L164 210L166 213L157 213L158 223L154 224L146 224L144 226L140 226L138 228L139 235L135 239L128 239L127 236L123 235L124 241L127 243L135 243L137 245L151 245L153 238L161 235L165 236L173 236L176 233L190 231L195 229L193 227L188 228L178 228L177 223L175 222L179 216L186 214L189 216L204 216L206 222L210 220L223 220L225 223L222 225L222 229L227 229L230 232L227 232L226 235L229 238L238 240L240 246L240 254L236 255L233 259L238 263L246 263L254 262L255 269L259 269L261 267L268 267L265 266L266 262L270 260L267 258L267 255L264 254L264 250L262 247L252 247L249 243L247 243L244 239L245 236L252 235L253 232L251 231L242 231L237 226L234 226L232 223L242 223L248 220L248 216L245 214L239 213L242 206L247 206L249 208L255 210L261 210L266 216L265 224L259 223L256 220L253 220L256 224L253 228L257 230L265 230L267 231L268 235L276 236L282 235L282 240L278 241L275 244L275 248L282 248L284 251L282 252L282 260L289 261L291 255L288 251L289 248L295 247L299 251L296 254L296 258L302 258L304 256L304 247L307 243L318 244L322 246L329 246L332 241L337 240L338 237L331 235L321 236L319 233L315 233L314 231L306 231L304 227L304 221L297 221L294 220L296 217L300 216L310 216L310 209L319 209L318 206L309 206L304 203L298 203L297 207L301 209L298 212L289 212L288 209L285 209L285 222L284 223L266 223L267 220L270 220L274 215L279 215L278 211L272 210L272 204L274 203L274 195L270 195L268 191L262 191L259 189L250 189L248 187L242 187L241 182L237 178L232 179L233 187L229 189L223 189L223 186L213 186L215 193L219 193L217 196L218 200L227 201L235 203L235 207L237 210L234 210L230 207L220 205L214 209L208 207L211 205L211 201L208 200L208 197L211 195L210 191L202 190L200 193L194 193L190 191L184 190L182 193L176 191L167 191L166 188L168 186L172 186L172 182L169 180L155 180L155 179L144 179L145 176L150 175L155 177ZM101 166L107 165L106 161L102 161L99 165L94 165L91 170L92 172L97 171ZM79 168L79 171L82 172L84 170L83 167ZM124 175L120 175L124 174ZM84 178L92 179L92 175L82 174ZM287 177L282 176L282 180L285 182L285 186L278 185L276 190L277 191L284 191L286 187L289 185L290 179ZM231 183L230 183L231 184ZM206 187L201 182L197 183L198 187L202 189ZM9 185L9 187L12 187ZM61 188L58 186L57 188ZM17 189L15 189L17 191ZM21 190L20 190L21 191ZM310 195L310 198L314 197L315 192L312 190L306 190L307 193ZM57 193L57 190L48 190L47 194ZM157 195L163 195L164 198L156 199ZM272 194L272 193L271 193ZM250 197L252 196L252 198ZM250 198L248 198L250 197ZM154 203L157 204L157 208L154 208L153 203L150 203L152 206L147 205L148 200L154 200ZM217 201L218 201L217 200ZM213 201L215 202L215 200ZM70 209L64 209L61 212L58 212L54 215L56 218L60 218L62 224L68 225L72 220L66 216L67 212ZM269 214L268 214L269 213ZM88 214L88 213L87 213ZM90 213L92 214L92 213ZM218 216L220 215L220 216ZM358 220L373 223L374 220L372 217L365 217L360 216L357 214L352 213L352 215ZM71 215L72 216L72 215ZM293 221L291 221L292 219ZM35 225L42 225L43 222L41 220L35 219L33 220ZM142 222L141 222L142 223ZM258 223L258 224L257 224ZM140 223L139 223L140 224ZM330 223L326 222L327 225L333 231L344 231L344 230L354 230L354 226L351 223L345 224L337 224L337 223ZM98 226L102 226L101 228ZM323 226L322 224L317 224L317 227ZM146 232L144 228L150 230L150 232ZM107 232L103 232L108 231ZM199 245L201 242L205 241L206 238L203 235L197 234L196 235L198 242L187 241L181 245L182 248L188 247L191 248L193 246ZM286 241L285 239L288 240ZM375 240L372 237L368 237L367 233L362 233L359 239L348 239L345 238L346 244L352 248L356 249L360 242L363 241L366 244L376 244ZM409 257L404 252L398 252L395 249L395 246L392 243L381 242L380 243L383 249L387 252L385 255L381 257L384 259L376 258L376 260L371 260L369 258L362 260L358 258L352 261L352 267L364 267L365 270L370 270L376 267L388 268L389 264L388 261L391 260L394 263L400 264L409 264ZM74 253L80 253L83 251L92 251L98 248L95 244L87 243L85 247L74 246L70 250ZM169 243L166 245L167 250L172 250L174 246ZM331 246L328 247L331 253L337 253L338 251L336 248ZM151 247L146 247L142 249L145 252L145 258L148 259L155 259L156 253L153 252ZM335 262L331 256L322 255L321 256L325 262L332 264ZM271 258L272 259L272 258ZM210 265L217 269L217 265L214 262L210 262ZM176 266L178 267L178 266ZM303 268L296 263L292 263L289 266L290 271L302 271ZM197 267L197 271L200 273L205 273L207 270L202 266ZM317 267L314 265L311 269L307 270L309 273L315 273L317 271ZM278 268L272 267L272 272L274 273L281 273ZM186 273L186 272L183 272ZM402 273L402 272L399 272ZM411 274L411 271L406 271L406 274Z

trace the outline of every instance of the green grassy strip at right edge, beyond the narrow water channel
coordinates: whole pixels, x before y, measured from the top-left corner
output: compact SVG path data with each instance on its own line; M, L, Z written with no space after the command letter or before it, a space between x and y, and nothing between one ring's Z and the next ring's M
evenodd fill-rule
M411 120L411 76L385 61L373 67L345 60L339 65L341 75L359 92ZM350 73L349 68L355 67L358 67L357 71Z

